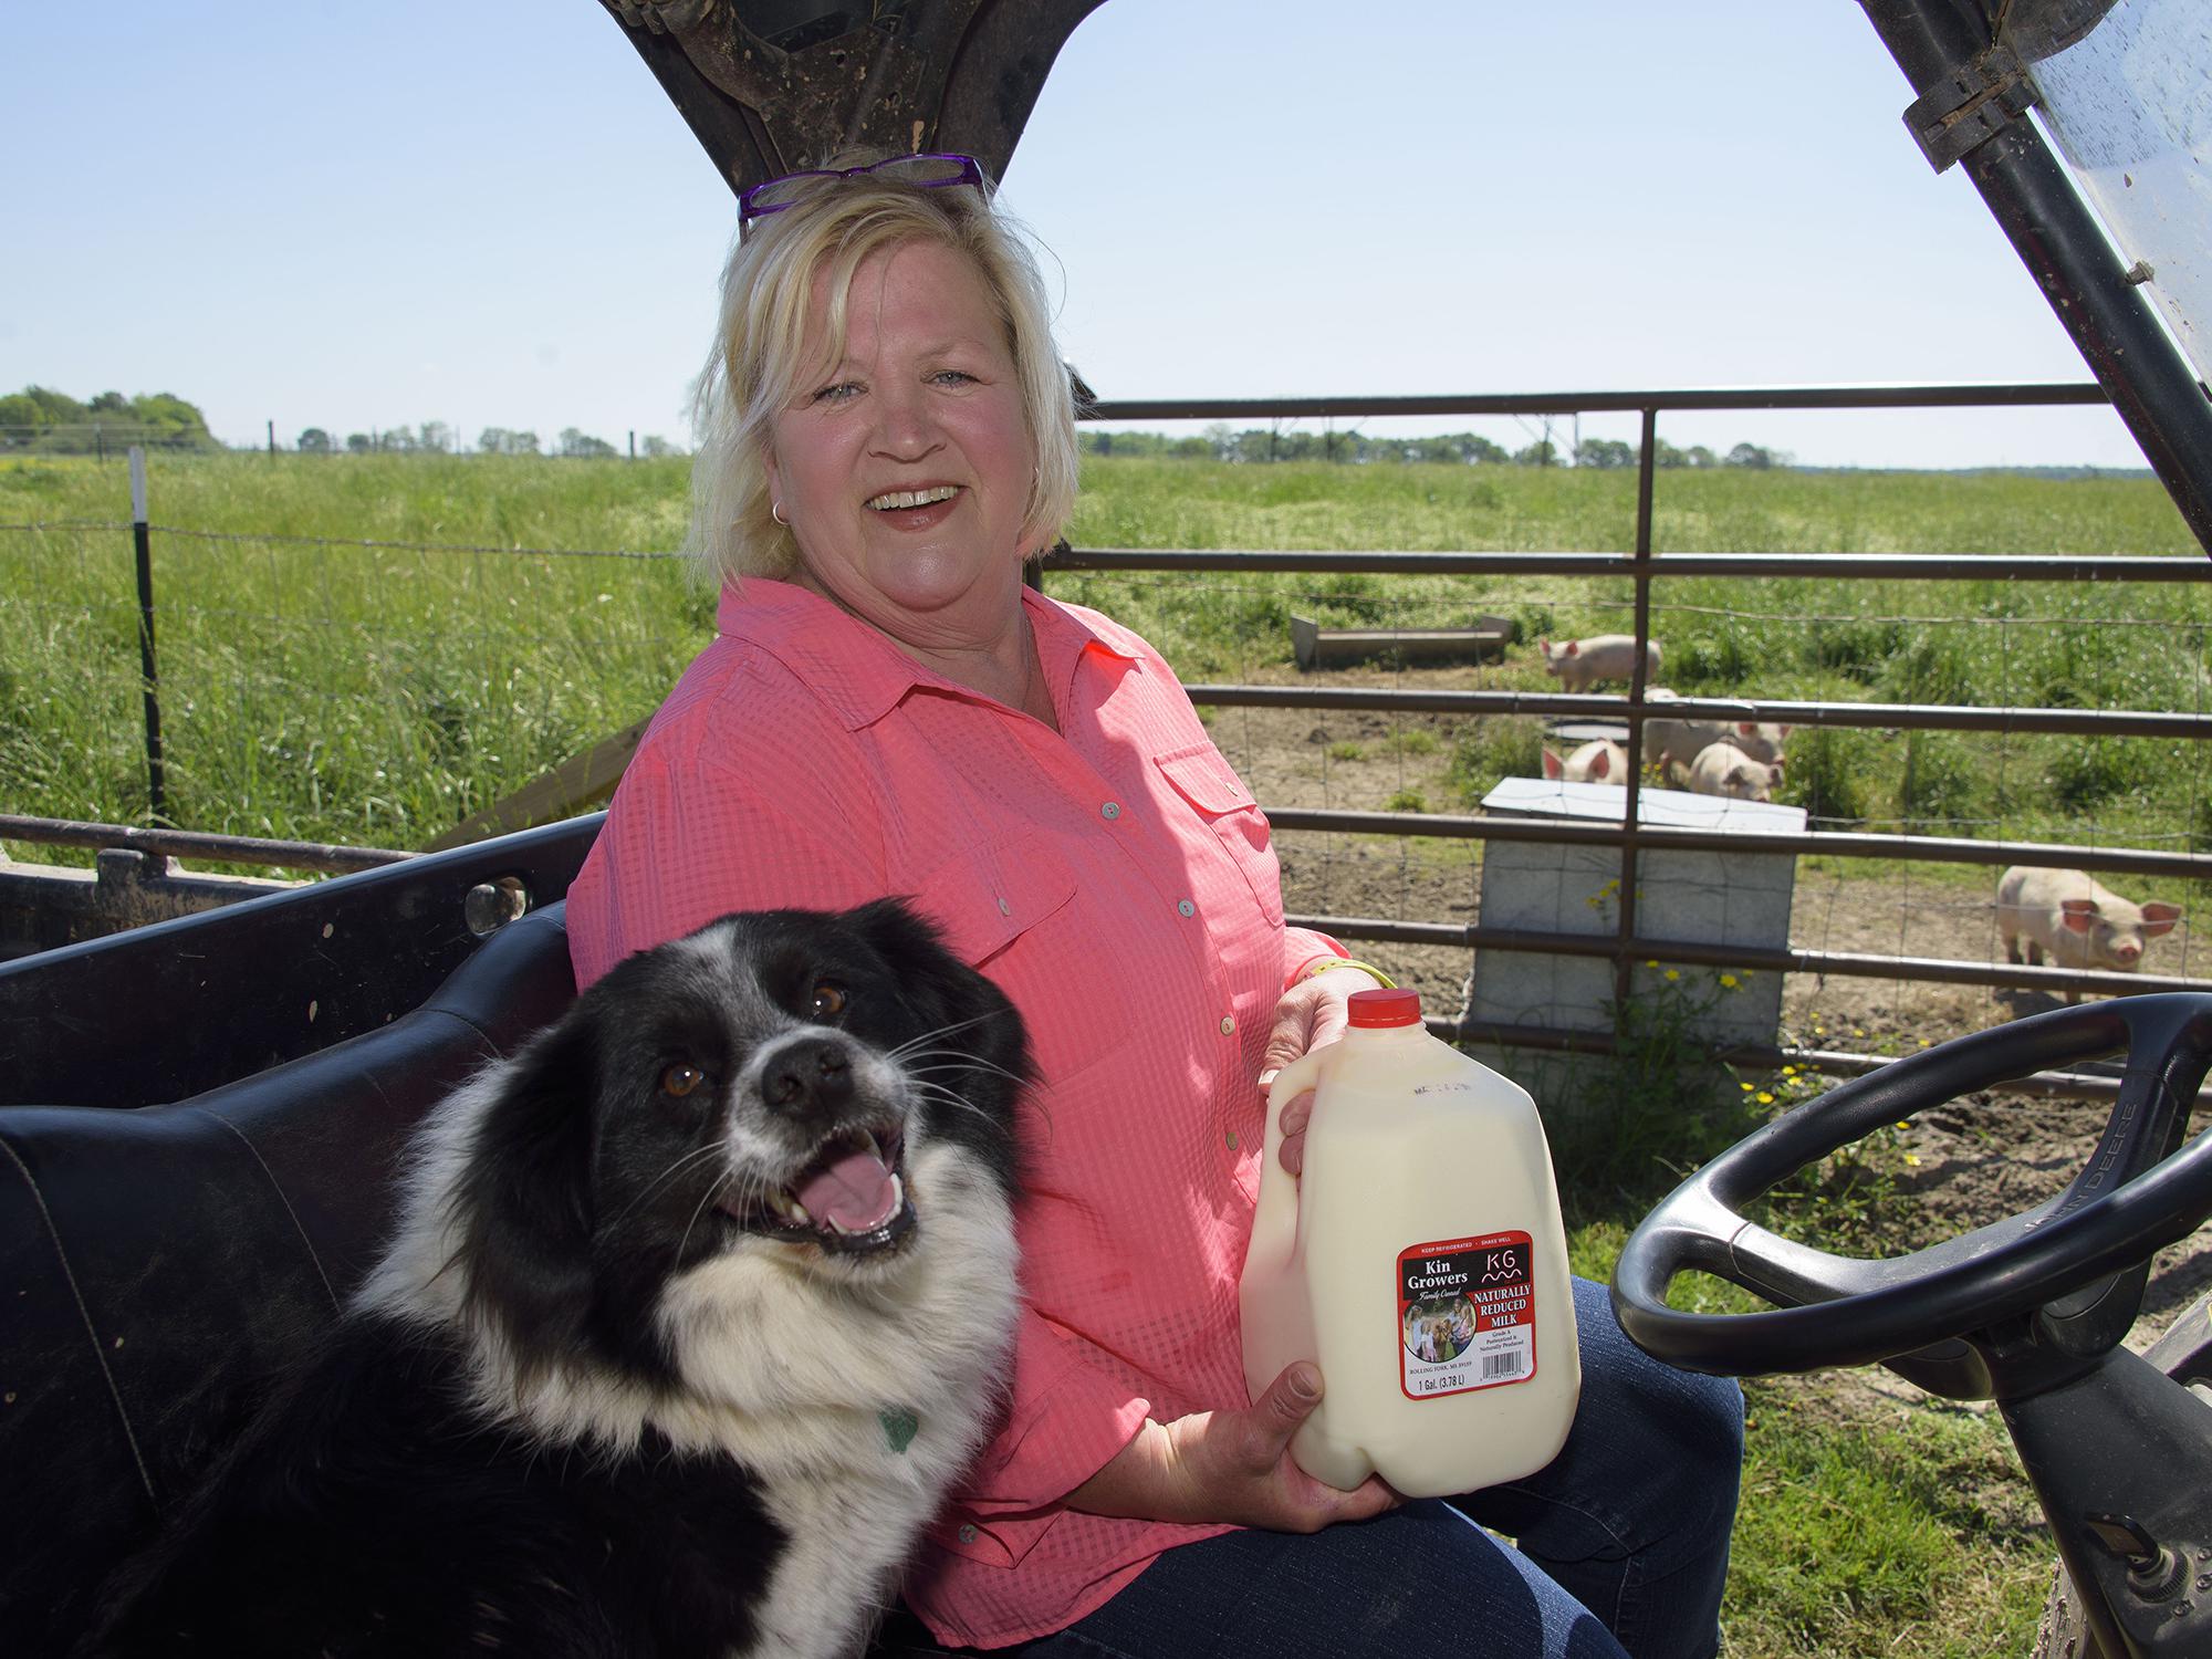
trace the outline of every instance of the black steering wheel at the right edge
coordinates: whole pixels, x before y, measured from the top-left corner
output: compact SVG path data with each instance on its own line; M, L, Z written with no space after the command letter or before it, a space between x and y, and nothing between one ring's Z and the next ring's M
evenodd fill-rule
M1832 1256L1741 1206L1929 1106L2044 1066L2126 1051L2119 1099L2088 1166L2055 1199L1927 1250ZM2212 1133L2181 1137L2212 1066L2212 993L2053 1009L1854 1077L1776 1117L1674 1188L1628 1239L1613 1312L1644 1352L1690 1371L1752 1376L1871 1365L1980 1332L2146 1261L2212 1212ZM1686 1314L1677 1274L1703 1270L1781 1307Z

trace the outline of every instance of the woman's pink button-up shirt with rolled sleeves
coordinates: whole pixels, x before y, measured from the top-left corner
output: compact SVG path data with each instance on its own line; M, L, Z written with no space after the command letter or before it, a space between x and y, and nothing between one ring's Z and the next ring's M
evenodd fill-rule
M1245 1402L1254 1077L1276 998L1336 949L1285 931L1267 821L1166 661L1022 599L1060 732L805 588L726 588L568 889L577 984L732 909L905 894L1026 1018L1009 1413L907 1582L973 1646L1057 1630L1228 1531L1060 1500L1148 1416Z

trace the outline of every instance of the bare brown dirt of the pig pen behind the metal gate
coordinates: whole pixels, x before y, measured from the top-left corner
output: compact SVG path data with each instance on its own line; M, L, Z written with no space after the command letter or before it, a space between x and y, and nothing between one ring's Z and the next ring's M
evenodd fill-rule
M1420 681L1413 670L1389 684L1411 688ZM1440 675L1436 684L1451 681ZM1464 677L1458 684L1467 684ZM1422 730L1429 737L1413 737ZM1418 792L1431 812L1467 810L1444 781L1449 717L1219 708L1212 734L1263 805L1380 810L1391 796ZM1480 869L1471 847L1279 830L1276 849L1285 907L1294 916L1478 918ZM1798 860L1790 938L1796 949L1812 951L2002 962L1993 889L1995 872L1969 880L1916 880L1909 872L1854 878L1847 867L1807 869L1807 860ZM1358 953L1420 989L1431 1015L1460 1013L1471 967L1464 947L1360 942ZM2150 967L2201 975L2212 971L2208 956L2205 947L2192 947L2183 922L2152 947ZM2008 989L1794 973L1783 987L1778 1040L1798 1048L1902 1055L2046 1006L2057 1006L2055 998ZM2086 1164L2108 1110L2108 1102L2097 1099L1986 1091L1916 1117L1893 1148L1896 1188L1916 1199L1927 1228L1916 1243L2015 1214L2062 1190ZM2132 1345L2148 1345L2208 1287L2212 1228L2201 1228L2161 1254ZM1880 1369L1849 1380L1832 1376L1820 1387L1832 1405L1922 1398Z

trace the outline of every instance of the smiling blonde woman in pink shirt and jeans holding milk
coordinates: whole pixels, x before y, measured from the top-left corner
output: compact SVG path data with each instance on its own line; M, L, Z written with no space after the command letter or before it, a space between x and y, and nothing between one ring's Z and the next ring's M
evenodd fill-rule
M1199 1652L1214 1626L1396 1652L1444 1588L1486 1652L1710 1655L1741 1398L1630 1349L1597 1287L1568 1449L1467 1506L1520 1551L1298 1471L1312 1365L1245 1405L1256 1079L1376 980L1283 925L1267 823L1166 661L1022 586L1073 507L1073 407L975 164L748 192L703 396L717 639L571 889L571 949L588 984L728 909L907 894L1029 1020L1011 1400L914 1608L1035 1652Z

